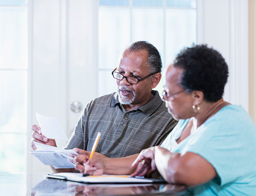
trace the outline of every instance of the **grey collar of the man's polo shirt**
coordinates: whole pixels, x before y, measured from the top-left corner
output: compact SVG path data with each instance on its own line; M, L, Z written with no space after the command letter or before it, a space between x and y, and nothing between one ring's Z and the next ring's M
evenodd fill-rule
M160 107L163 101L161 100L158 91L152 90L151 94L153 94L154 97L149 102L133 110L141 110L147 116L152 115ZM118 94L116 92L112 97L110 107L115 107L117 105L121 105L121 104L118 101Z

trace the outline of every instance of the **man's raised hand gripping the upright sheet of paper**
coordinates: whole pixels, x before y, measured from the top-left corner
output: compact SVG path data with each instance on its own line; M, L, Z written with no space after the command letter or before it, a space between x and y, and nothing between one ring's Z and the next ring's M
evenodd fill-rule
M35 147L34 141L41 144L57 147L55 139L48 139L42 135L41 128L38 125L32 125L31 129L34 131L31 138L31 147L33 150L37 149L37 147Z

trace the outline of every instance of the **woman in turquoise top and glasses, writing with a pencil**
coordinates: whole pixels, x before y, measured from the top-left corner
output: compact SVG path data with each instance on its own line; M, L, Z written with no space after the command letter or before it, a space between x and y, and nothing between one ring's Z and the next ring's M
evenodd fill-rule
M80 155L76 169L132 176L157 170L169 183L194 187L194 195L256 195L256 129L241 106L223 100L227 78L219 52L185 48L166 72L163 99L179 123L161 147L120 159Z

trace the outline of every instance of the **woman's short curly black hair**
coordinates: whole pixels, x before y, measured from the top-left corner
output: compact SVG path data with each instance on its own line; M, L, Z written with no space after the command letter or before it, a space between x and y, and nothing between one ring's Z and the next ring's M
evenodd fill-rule
M188 92L202 91L209 102L220 100L228 79L228 65L222 55L207 45L184 48L175 58L174 67L184 70L181 86Z

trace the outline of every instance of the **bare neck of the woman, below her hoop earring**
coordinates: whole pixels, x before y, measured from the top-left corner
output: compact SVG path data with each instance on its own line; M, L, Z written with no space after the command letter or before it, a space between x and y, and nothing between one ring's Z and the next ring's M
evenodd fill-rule
M219 111L221 108L225 107L226 105L229 105L230 103L225 102L222 99L220 99L217 102L202 102L200 104L200 111L195 116L194 126L196 125L196 128L201 126L208 118L216 114L217 111ZM196 123L196 124L195 124Z

